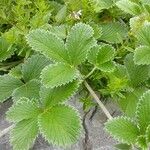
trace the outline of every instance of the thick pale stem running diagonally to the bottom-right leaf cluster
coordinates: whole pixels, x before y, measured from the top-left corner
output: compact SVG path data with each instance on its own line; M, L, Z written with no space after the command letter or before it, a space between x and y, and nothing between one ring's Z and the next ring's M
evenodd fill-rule
M98 96L95 94L95 92L93 91L93 89L90 87L90 85L84 81L84 85L85 87L88 89L88 91L90 92L91 96L95 99L95 101L98 103L98 105L100 106L100 108L102 109L102 111L104 112L104 114L106 115L106 117L108 119L112 119L113 117L111 116L111 114L109 113L109 111L107 110L107 108L105 107L105 105L100 101L100 99L98 98Z

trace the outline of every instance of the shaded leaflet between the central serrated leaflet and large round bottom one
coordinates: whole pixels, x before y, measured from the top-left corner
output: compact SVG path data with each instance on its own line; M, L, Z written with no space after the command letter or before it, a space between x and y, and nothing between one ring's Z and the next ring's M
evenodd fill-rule
M55 88L46 88L43 86L40 91L41 101L45 107L54 106L72 97L78 88L78 81L73 81Z

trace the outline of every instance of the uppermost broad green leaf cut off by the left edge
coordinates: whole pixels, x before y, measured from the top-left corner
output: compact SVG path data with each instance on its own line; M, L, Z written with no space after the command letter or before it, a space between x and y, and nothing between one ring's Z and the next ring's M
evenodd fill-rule
M10 58L13 53L13 47L4 38L0 37L0 61Z

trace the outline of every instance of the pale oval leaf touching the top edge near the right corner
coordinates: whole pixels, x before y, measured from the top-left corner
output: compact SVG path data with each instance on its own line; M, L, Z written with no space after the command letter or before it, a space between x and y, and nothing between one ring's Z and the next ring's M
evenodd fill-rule
M131 2L130 0L120 0L116 5L124 12L131 15L138 15L141 13L141 9L138 4Z

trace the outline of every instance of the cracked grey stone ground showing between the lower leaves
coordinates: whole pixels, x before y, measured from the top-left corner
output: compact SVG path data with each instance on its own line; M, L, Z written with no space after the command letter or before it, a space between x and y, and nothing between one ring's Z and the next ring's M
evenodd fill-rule
M9 126L9 123L5 120L5 112L11 104L11 101L7 101L0 105L0 130ZM79 110L83 120L84 130L78 143L67 149L55 148L39 136L31 150L114 150L113 145L116 141L103 130L106 117L100 109L93 108L85 114L82 111L82 104L76 99L72 99L70 104ZM118 115L118 112L115 111L116 107L111 103L107 104L107 108L113 115ZM0 150L12 150L9 144L9 135L0 138Z

